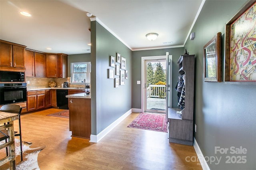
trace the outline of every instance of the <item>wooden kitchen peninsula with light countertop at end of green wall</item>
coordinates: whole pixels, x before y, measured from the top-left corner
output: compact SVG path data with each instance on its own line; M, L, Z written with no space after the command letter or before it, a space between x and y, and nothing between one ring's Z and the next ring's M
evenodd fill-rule
M91 96L84 93L66 95L69 107L69 130L72 136L90 139Z

